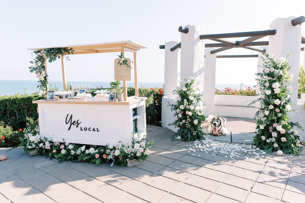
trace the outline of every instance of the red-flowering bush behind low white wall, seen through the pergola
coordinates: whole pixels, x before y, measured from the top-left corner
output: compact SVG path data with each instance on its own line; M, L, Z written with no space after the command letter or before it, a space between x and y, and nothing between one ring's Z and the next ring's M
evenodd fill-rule
M223 90L215 88L215 95L240 95L240 96L256 96L256 89L241 84L239 90L226 87Z

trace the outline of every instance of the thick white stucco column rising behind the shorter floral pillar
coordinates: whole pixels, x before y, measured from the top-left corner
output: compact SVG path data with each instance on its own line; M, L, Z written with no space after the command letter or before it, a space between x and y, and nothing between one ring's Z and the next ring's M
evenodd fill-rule
M203 67L204 67L204 40L199 35L205 34L202 25L187 25L188 33L181 33L181 80L189 76L195 78L195 82L201 81L198 88L203 94Z

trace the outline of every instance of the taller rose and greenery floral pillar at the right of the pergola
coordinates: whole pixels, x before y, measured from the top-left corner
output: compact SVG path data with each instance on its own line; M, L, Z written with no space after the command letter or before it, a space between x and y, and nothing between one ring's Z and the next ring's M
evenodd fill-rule
M257 79L260 98L256 101L261 106L255 114L257 128L253 145L267 152L276 151L278 155L299 154L300 137L293 127L303 128L298 122L289 121L288 112L294 111L290 99L293 75L289 75L289 63L287 58L275 60L273 54L264 55L263 72L256 74L260 77Z

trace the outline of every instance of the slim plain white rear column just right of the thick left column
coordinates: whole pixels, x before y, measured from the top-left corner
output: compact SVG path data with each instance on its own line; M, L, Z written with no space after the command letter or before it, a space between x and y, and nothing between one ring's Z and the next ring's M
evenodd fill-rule
M216 54L211 54L213 48L205 49L203 76L203 105L215 105L215 72Z

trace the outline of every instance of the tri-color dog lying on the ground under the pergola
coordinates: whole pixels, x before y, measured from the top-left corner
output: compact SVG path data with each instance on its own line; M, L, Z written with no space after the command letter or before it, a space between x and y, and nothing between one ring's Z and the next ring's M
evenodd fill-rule
M207 117L208 134L212 134L213 132L222 133L222 135L228 134L228 129L226 128L227 119L221 116L209 115Z

